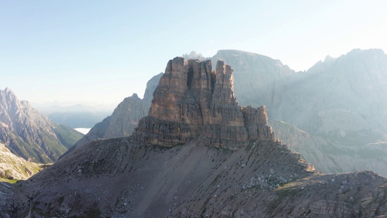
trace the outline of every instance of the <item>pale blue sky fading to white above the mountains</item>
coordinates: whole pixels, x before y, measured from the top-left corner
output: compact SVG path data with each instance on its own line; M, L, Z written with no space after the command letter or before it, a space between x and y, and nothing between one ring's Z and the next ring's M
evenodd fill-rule
M0 2L0 89L19 99L121 102L168 60L236 49L296 71L354 48L387 51L387 1Z

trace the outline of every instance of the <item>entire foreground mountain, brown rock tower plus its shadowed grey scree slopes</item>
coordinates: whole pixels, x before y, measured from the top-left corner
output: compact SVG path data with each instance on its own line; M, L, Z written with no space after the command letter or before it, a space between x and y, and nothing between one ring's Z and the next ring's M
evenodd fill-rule
M387 215L387 178L314 170L275 137L264 106L238 104L232 81L222 61L212 71L176 57L133 136L88 142L26 181L0 183L0 215Z

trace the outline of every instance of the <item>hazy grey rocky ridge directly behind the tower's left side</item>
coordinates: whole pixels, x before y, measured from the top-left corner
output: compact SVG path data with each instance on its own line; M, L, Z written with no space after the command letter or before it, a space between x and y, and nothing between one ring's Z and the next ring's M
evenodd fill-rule
M159 73L147 82L143 99L140 99L136 93L125 98L118 104L111 116L91 128L89 133L75 144L75 147L98 138L118 138L132 135L140 118L147 116L149 107L151 107L152 94L162 75L163 73Z

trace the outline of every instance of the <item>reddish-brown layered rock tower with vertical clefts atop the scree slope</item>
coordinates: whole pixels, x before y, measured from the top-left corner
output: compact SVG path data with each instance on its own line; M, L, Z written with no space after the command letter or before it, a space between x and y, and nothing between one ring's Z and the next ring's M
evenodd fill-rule
M202 136L206 145L229 149L257 138L276 140L266 108L239 106L233 82L233 69L223 61L212 71L210 60L170 60L134 137L171 147Z

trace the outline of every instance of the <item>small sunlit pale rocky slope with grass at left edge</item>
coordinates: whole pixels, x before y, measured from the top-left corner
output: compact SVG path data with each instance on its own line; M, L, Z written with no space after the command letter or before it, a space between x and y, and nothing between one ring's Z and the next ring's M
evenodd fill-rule
M0 182L14 183L17 180L26 180L46 166L17 157L0 144Z

